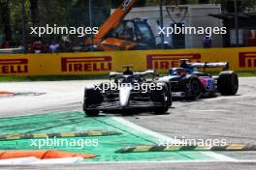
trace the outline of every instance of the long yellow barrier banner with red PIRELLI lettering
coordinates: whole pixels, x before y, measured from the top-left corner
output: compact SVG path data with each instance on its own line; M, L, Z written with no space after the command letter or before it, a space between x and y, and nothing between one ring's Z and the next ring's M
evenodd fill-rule
M166 72L179 59L229 62L234 71L256 71L256 47L177 50L108 51L57 54L2 54L0 76L107 74L132 65L135 71Z

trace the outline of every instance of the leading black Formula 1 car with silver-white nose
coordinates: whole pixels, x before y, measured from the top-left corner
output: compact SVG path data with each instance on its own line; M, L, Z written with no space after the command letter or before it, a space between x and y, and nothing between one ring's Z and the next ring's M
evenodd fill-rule
M110 81L85 88L83 111L97 116L100 111L153 110L165 113L172 105L171 83L155 79L154 71L110 72Z

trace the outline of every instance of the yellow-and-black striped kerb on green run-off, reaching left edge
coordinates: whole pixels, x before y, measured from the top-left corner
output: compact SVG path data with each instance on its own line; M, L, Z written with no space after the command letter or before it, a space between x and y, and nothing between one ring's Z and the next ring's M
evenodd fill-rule
M89 137L89 136L112 136L120 135L121 132L109 130L87 130L77 132L57 132L57 133L17 133L0 135L0 140L53 138L53 137Z

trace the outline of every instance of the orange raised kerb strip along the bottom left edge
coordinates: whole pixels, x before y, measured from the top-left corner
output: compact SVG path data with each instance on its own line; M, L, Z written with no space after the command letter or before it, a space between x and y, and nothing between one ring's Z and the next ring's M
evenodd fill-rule
M31 157L31 156L37 157L40 159L65 158L65 157L82 157L82 158L96 157L95 155L92 155L92 154L77 154L77 153L68 153L68 152L55 151L55 150L0 151L0 159Z

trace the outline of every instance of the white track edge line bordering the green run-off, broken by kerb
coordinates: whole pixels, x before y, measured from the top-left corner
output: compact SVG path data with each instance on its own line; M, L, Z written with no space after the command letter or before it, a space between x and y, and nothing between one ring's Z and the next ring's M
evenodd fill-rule
M176 140L171 138L171 137L168 137L164 134L160 134L160 133L152 131L150 129L143 128L141 126L135 125L135 124L133 124L133 123L121 118L121 117L112 117L112 119L121 123L121 124L123 124L123 125L125 125L125 126L127 126L127 127L129 127L129 128L133 128L135 130L138 130L138 131L141 131L143 133L154 136L157 139L164 140L164 141L176 142ZM201 152L201 153L206 155L206 156L213 157L213 158L217 159L218 161L237 161L237 159L235 159L235 158L232 158L232 157L229 157L229 156L223 156L223 155L216 154L216 153L213 153L213 152Z

